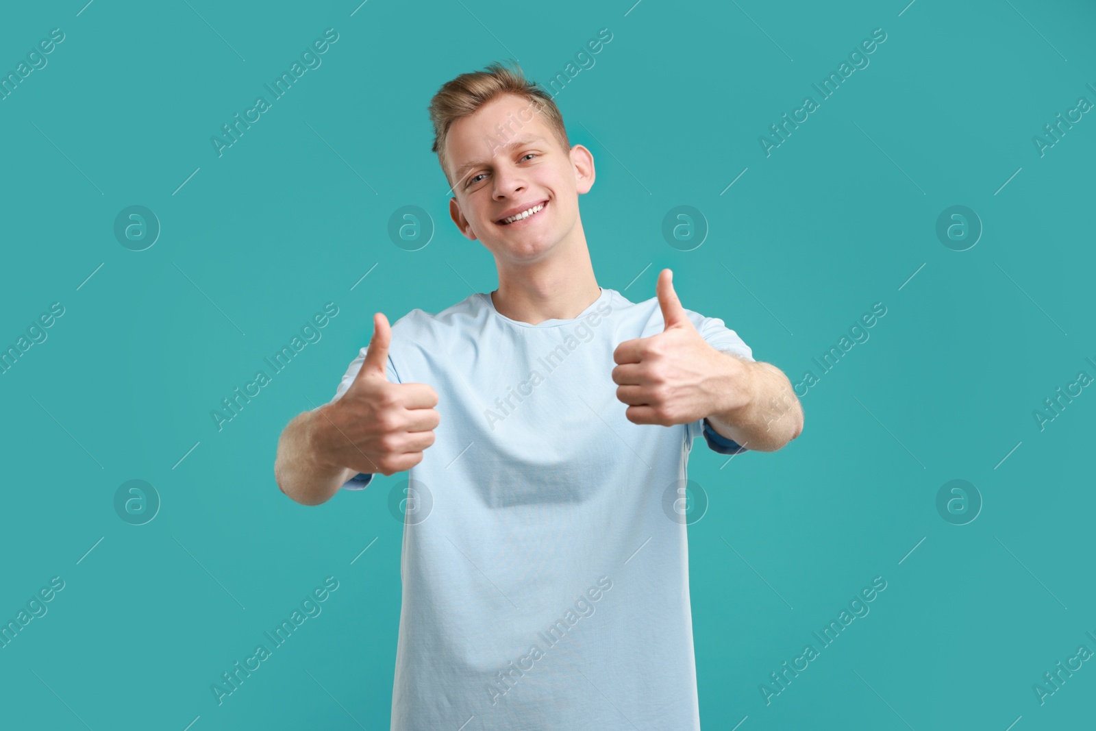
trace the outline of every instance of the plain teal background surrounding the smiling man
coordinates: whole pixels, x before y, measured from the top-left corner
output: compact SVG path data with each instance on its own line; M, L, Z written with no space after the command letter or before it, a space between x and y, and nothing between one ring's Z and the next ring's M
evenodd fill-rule
M784 449L692 454L710 500L689 528L704 728L1091 727L1094 663L1042 705L1032 690L1096 651L1096 396L1034 416L1096 376L1096 117L1042 157L1032 144L1096 102L1091 3L82 5L0 23L4 73L66 34L0 101L0 344L65 307L0 376L0 619L65 581L0 650L0 726L388 728L387 500L407 476L298 505L273 478L277 438L334 395L375 311L496 287L448 219L437 88L507 57L547 83L607 27L556 96L597 163L581 204L598 283L643 300L672 267L685 307L792 382L819 376ZM328 27L322 65L218 157L210 136ZM766 157L758 136L877 27L870 65ZM145 251L113 233L132 205L162 227ZM418 251L387 233L407 205L436 229ZM692 251L661 235L678 205L709 227ZM966 251L936 237L954 205L984 227ZM329 301L322 339L218 431L210 411ZM870 339L821 375L812 358L875 302ZM132 479L162 501L140 526L114 510ZM952 479L983 501L966 525L936 510ZM218 706L210 685L326 576L322 614ZM875 576L870 614L766 704L769 673Z

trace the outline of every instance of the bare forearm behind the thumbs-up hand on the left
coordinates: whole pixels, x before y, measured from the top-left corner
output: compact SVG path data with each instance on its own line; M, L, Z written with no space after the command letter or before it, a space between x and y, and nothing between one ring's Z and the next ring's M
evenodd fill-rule
M347 467L324 465L311 446L311 432L323 408L306 411L290 421L277 443L274 479L278 488L302 505L319 505L330 500L346 480L357 472Z

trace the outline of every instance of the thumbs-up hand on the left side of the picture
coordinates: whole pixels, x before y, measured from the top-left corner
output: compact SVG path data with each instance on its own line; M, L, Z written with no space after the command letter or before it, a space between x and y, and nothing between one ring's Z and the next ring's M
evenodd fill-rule
M388 381L391 339L388 318L377 312L362 369L342 398L320 407L312 420L309 442L317 461L390 476L418 465L434 444L437 393L426 384Z

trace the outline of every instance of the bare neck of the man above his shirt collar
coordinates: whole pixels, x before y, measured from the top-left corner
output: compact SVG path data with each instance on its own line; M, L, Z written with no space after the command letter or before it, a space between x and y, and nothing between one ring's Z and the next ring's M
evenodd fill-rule
M500 315L518 322L572 320L602 294L583 236L573 237L570 245L561 241L543 260L514 262L495 256L495 266L499 288L491 293L491 301Z

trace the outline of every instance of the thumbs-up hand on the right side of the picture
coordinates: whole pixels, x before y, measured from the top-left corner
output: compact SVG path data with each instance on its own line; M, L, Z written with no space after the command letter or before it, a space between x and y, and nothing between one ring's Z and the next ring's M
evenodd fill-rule
M617 398L635 424L672 426L747 401L745 365L705 341L674 292L673 272L662 270L655 285L664 330L626 340L613 352Z

